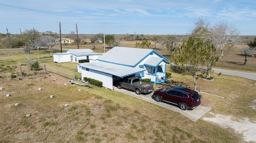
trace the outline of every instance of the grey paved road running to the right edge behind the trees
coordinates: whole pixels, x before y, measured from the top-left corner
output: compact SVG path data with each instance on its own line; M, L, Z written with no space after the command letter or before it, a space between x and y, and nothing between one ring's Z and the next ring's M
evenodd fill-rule
M240 72L240 71L232 71L232 70L216 69L216 68L212 68L212 70L217 73L221 72L221 74L240 76L240 77L256 80L256 73Z

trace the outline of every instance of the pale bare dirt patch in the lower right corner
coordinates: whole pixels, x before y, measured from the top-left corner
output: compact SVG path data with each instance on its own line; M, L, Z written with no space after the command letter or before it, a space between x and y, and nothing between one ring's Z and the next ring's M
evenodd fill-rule
M249 118L236 119L233 116L224 116L221 114L214 114L212 112L210 112L210 114L214 115L215 117L204 117L203 119L217 123L222 127L233 128L238 133L242 133L244 135L245 141L256 142L256 121L250 122Z

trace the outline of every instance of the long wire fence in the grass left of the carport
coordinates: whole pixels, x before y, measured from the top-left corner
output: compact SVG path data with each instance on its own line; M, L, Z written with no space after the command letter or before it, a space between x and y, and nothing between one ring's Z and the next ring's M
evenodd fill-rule
M67 71L67 70L60 69L58 67L54 67L54 66L50 66L50 65L46 65L46 64L43 65L42 69L44 69L45 73L52 72L52 73L58 74L60 76L68 78L68 79L81 78L81 74L79 72Z

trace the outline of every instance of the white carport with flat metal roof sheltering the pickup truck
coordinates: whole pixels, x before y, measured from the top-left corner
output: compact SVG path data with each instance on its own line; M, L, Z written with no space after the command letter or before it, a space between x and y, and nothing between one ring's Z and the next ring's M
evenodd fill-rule
M138 67L128 67L102 61L82 63L80 66L82 67L82 78L89 77L102 81L102 86L111 90L113 90L114 81L130 75L139 76L139 72L146 71L146 69Z

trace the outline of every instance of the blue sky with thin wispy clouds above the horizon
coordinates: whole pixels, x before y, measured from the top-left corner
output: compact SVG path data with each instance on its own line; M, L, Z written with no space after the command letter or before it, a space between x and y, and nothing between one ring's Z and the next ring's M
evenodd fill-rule
M186 34L203 18L256 35L256 0L2 0L0 33Z

